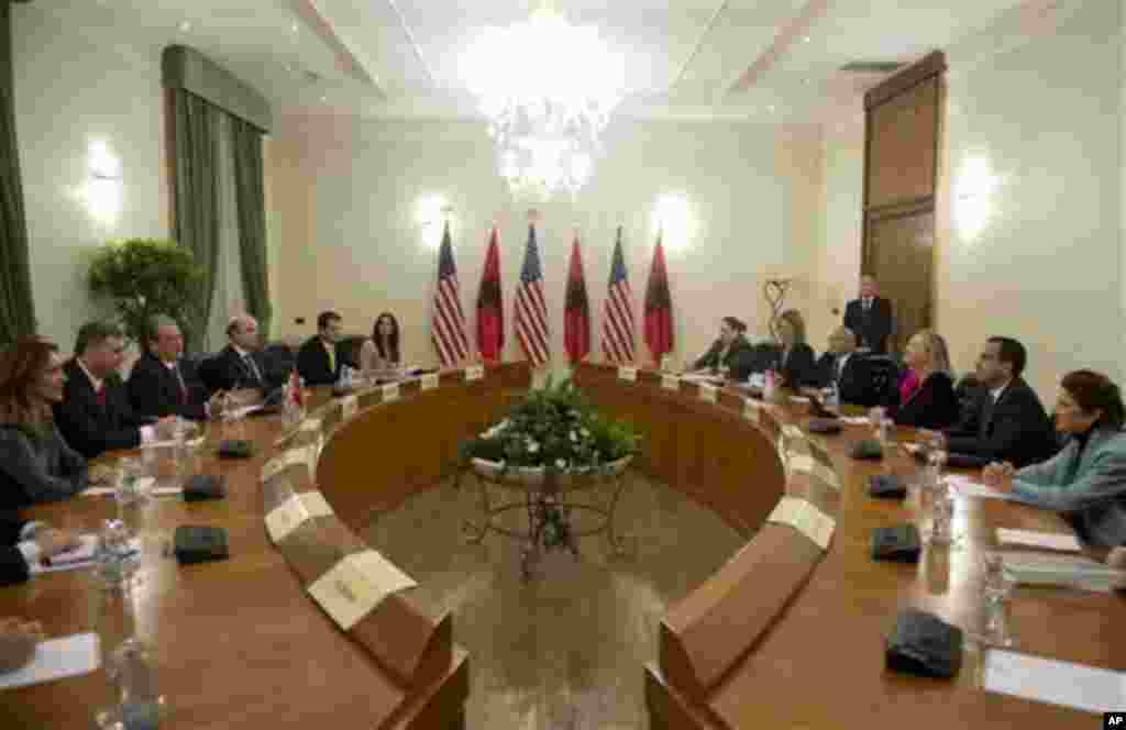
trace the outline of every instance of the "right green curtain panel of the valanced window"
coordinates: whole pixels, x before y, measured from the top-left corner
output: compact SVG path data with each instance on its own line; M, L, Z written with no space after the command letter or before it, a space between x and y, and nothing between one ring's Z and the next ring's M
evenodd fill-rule
M266 260L266 195L262 170L262 133L239 117L231 117L234 154L235 206L239 212L239 253L247 310L258 319L259 331L270 332L270 287Z

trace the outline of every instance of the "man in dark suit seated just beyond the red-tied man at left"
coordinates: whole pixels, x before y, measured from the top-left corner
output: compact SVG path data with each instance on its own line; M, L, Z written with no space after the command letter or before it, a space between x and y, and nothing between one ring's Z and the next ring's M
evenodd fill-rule
M223 393L207 399L207 389L195 366L185 360L184 335L176 320L158 314L149 320L148 349L129 375L128 393L140 416L179 416L207 420L223 409Z

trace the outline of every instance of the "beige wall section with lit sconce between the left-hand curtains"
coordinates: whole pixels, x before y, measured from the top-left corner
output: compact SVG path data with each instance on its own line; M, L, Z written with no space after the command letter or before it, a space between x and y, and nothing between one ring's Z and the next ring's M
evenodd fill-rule
M12 6L16 131L42 333L64 350L98 312L87 256L117 238L167 237L160 50L64 21L44 3ZM90 142L120 160L91 182Z

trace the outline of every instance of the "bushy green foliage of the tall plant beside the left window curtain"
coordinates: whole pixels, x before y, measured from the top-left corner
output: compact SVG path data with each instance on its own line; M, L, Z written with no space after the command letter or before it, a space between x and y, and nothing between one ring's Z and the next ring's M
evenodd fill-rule
M114 300L129 337L143 339L145 320L168 314L189 332L199 322L204 269L173 241L131 239L102 246L87 278L95 296Z

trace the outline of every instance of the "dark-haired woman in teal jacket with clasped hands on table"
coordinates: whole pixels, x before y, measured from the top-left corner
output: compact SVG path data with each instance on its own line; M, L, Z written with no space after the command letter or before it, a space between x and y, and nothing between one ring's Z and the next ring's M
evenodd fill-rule
M1053 509L1100 559L1126 545L1126 433L1118 385L1092 371L1064 376L1056 425L1070 438L1052 459L1019 471L992 463L985 483L1029 505Z

